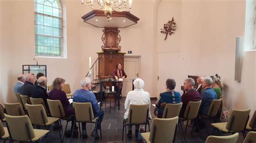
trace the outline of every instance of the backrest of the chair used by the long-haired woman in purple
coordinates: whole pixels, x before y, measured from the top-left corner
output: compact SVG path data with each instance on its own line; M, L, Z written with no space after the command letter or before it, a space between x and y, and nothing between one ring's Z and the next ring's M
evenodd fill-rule
M62 103L59 100L47 99L47 103L52 117L63 118L66 116Z

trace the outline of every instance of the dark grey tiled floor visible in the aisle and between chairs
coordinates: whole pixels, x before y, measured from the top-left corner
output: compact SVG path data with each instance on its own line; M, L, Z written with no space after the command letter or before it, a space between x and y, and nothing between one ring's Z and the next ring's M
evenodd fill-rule
M104 119L102 122L102 139L98 139L96 140L96 142L122 142L122 126L123 126L123 116L124 116L124 102L125 102L125 98L123 97L121 100L121 106L120 106L120 110L118 111L116 108L116 112L105 112L104 115ZM155 103L156 99L151 99L151 103ZM105 103L103 103L103 108L102 110L105 111ZM109 103L107 103L109 104ZM109 106L107 105L106 107L107 109L109 109ZM153 115L153 110L154 110L154 106L151 106L151 115ZM71 123L69 123L68 125L68 130L70 129L70 125ZM62 125L65 125L65 121L62 121ZM90 136L91 132L93 131L93 127L94 125L92 124L87 124L87 134L88 134L88 138L87 139L83 139L83 138L73 138L72 142L93 142L93 137ZM132 128L132 139L128 139L127 142L137 142L138 140L135 138L135 134L134 134L134 127ZM185 129L185 126L183 126L183 129ZM63 129L64 130L64 129ZM148 130L148 128L147 128ZM208 125L208 131L209 133L212 133L213 128L211 127L211 125ZM200 130L200 133L197 132L193 132L193 134L190 134L191 132L191 127L187 128L187 132L185 134L186 136L186 141L187 142L205 142L206 138L207 138L207 132L206 129L204 130ZM60 142L59 140L59 136L58 136L58 132L57 131L53 131L51 132L51 134L49 135L49 142ZM65 138L64 142L68 142L70 138ZM125 137L124 137L125 139ZM240 134L238 142L242 142L244 139L242 138L242 135ZM46 140L44 139L43 142L46 142ZM125 142L125 140L124 140ZM180 132L179 130L177 130L177 135L176 135L176 142L181 142L181 138L180 138Z

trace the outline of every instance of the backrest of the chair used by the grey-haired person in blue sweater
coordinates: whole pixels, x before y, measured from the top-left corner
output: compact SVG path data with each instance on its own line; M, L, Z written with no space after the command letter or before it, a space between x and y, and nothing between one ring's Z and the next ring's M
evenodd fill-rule
M89 122L94 119L91 103L73 102L73 108L77 121Z

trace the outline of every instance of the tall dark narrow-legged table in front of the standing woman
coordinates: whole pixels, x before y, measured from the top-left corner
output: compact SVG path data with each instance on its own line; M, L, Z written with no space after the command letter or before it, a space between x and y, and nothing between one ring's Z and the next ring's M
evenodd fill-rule
M100 110L102 109L102 100L103 100L103 88L102 88L102 85L104 82L112 82L112 83L122 83L123 81L116 81L116 80L113 80L113 79L109 79L109 78L106 78L106 79L102 79L99 81L99 98L100 98ZM120 84L118 84L119 86ZM117 88L117 106L118 106L118 110L120 110L120 99L119 99L119 90L120 88L118 87Z

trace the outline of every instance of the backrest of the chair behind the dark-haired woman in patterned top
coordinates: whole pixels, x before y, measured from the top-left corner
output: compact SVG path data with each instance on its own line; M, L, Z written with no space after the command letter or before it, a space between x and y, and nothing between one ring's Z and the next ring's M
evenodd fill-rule
M179 117L179 112L182 107L182 102L177 104L166 104L162 118Z

